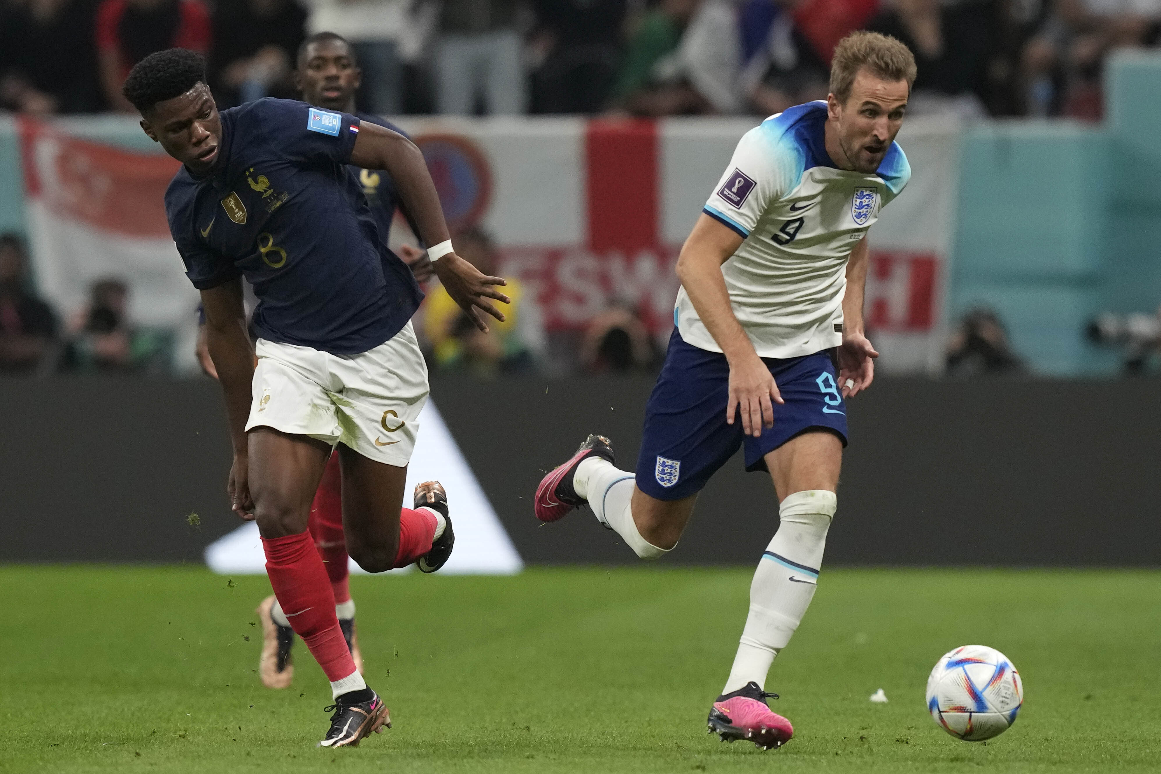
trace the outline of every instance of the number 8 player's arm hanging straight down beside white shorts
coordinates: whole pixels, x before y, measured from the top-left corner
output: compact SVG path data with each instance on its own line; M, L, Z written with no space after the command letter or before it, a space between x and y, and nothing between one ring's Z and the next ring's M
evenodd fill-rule
M230 506L251 521L254 502L250 498L246 449L246 418L250 417L250 385L254 376L254 350L246 333L246 310L241 303L241 279L202 290L205 310L205 345L217 369L225 412L230 420L233 465L230 468Z

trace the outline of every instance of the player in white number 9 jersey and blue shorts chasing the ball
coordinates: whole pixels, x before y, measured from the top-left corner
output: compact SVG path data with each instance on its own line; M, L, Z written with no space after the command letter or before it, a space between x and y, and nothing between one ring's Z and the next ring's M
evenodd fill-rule
M767 470L780 526L709 731L778 747L766 673L814 596L846 446L846 398L871 385L866 233L910 179L895 135L915 81L899 41L854 32L835 49L830 95L747 132L682 248L676 330L646 407L636 473L590 435L536 491L555 521L587 502L647 559L677 545L709 477L745 446ZM837 371L837 372L836 372ZM723 412L724 410L724 412ZM743 507L735 502L735 507Z

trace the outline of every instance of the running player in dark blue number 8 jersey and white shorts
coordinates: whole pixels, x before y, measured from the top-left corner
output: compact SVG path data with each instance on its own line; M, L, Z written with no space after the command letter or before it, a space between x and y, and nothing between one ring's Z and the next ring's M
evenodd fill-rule
M390 725L342 636L307 523L332 448L341 462L344 537L365 570L452 552L435 482L401 508L427 371L411 328L423 294L380 236L354 175L385 171L417 220L440 281L482 327L505 302L457 258L423 154L389 129L302 102L265 99L222 114L200 55L170 49L138 63L124 95L142 129L182 162L166 191L170 230L202 295L209 352L233 442L233 509L257 520L284 617L331 681L322 746L353 746ZM247 335L241 277L258 306ZM291 612L293 610L293 612Z

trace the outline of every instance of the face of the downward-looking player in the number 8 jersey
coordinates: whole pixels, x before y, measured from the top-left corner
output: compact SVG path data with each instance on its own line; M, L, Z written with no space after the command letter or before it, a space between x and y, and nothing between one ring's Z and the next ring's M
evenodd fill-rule
M142 118L145 133L194 174L205 174L218 159L222 120L205 84L165 102L158 102Z

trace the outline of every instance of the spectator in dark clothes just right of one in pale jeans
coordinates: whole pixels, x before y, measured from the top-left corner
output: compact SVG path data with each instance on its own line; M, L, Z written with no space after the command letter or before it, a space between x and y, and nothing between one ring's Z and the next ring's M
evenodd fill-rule
M536 0L532 113L599 113L620 64L627 0Z

